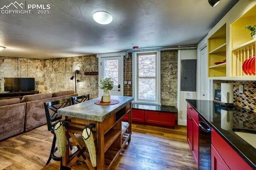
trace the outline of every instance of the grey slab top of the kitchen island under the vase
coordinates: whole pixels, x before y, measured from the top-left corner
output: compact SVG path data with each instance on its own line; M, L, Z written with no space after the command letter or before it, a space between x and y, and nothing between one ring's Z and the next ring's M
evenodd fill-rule
M71 105L58 110L58 114L63 116L76 117L86 120L94 120L97 122L103 122L114 112L123 108L128 102L133 101L133 97L125 96L111 96L111 99L119 100L116 105L96 105L94 102L100 98L92 99L86 102L81 102L76 105Z

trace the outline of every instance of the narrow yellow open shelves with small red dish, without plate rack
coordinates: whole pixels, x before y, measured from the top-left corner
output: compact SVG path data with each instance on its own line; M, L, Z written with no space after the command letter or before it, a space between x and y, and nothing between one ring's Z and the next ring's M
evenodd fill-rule
M226 59L226 45L226 24L224 24L208 38L208 77L226 76L226 62L214 64Z

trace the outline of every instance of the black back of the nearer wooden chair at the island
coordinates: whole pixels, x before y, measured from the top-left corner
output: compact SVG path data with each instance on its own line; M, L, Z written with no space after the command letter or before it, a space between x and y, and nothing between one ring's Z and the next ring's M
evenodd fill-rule
M58 115L58 109L72 105L71 99L63 99L53 102L44 102L45 116L47 120L48 130L52 130L52 122L61 119L61 115Z

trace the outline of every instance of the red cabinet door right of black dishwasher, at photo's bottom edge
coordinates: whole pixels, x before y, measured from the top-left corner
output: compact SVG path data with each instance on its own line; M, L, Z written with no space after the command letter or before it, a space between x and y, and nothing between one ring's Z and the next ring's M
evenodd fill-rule
M213 146L211 146L211 170L230 170Z

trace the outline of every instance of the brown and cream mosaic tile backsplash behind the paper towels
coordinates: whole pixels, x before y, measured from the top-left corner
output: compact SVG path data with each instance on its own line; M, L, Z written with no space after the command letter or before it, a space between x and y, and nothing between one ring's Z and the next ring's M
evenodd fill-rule
M239 93L239 85L244 85L244 93ZM234 105L256 113L256 81L233 82Z

